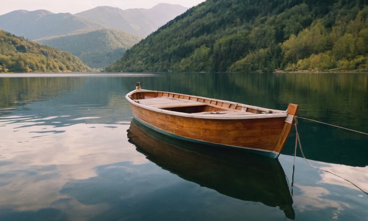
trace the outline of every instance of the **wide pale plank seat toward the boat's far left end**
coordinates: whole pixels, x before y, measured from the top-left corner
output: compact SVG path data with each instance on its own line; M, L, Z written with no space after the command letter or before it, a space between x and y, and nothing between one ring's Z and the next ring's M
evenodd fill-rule
M172 98L172 97L156 97L156 98L147 98L147 99L137 99L135 100L135 102L138 102L139 104L151 106L154 108L160 108L160 109L206 105L198 101L191 101L187 99Z

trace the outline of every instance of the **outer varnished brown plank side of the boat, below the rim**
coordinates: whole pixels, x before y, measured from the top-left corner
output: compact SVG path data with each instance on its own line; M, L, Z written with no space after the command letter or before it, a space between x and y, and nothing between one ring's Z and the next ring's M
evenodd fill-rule
M202 118L190 114L170 114L169 111L147 108L134 101L129 104L135 119L167 136L195 143L237 148L272 158L279 156L291 129L291 123L285 122L286 115L264 118Z

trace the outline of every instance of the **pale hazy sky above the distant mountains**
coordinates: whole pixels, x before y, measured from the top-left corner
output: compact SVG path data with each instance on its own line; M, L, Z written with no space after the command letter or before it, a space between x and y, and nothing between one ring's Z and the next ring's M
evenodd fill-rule
M196 6L205 0L1 0L0 15L15 10L34 11L45 9L52 13L79 13L97 6L112 6L121 9L152 8L158 3L180 4L185 7Z

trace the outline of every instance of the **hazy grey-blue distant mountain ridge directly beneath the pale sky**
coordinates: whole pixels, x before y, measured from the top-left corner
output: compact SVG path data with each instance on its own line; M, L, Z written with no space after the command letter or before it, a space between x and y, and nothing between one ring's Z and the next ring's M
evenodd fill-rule
M117 29L147 36L187 9L180 5L161 3L149 9L122 10L99 6L74 15L55 14L47 10L17 10L0 15L0 29L29 40L99 29Z

